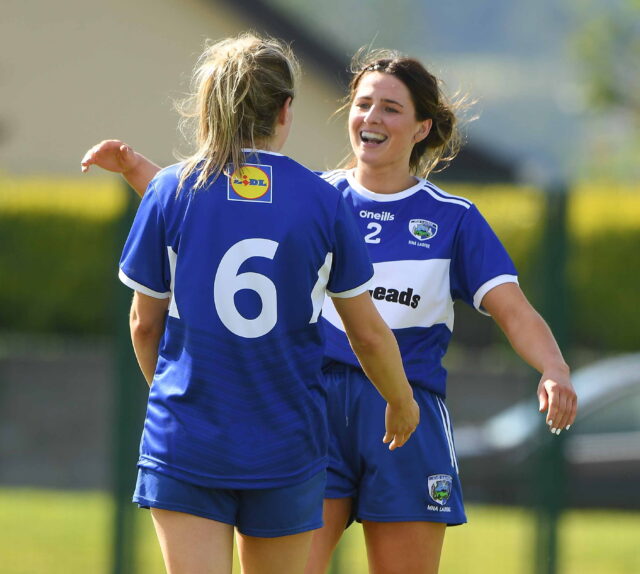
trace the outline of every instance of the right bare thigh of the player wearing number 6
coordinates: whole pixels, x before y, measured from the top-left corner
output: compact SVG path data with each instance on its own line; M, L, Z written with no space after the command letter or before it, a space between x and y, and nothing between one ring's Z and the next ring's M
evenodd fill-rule
M303 574L312 536L312 531L276 538L238 533L243 574Z

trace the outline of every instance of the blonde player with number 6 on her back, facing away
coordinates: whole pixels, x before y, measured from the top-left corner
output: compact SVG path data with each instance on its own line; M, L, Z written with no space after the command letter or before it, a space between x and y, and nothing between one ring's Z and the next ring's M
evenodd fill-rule
M150 387L133 500L169 574L231 574L234 529L245 574L304 571L326 484L325 294L386 401L378 440L395 450L419 421L346 201L279 153L296 75L274 39L205 50L181 107L195 151L146 166L120 260Z

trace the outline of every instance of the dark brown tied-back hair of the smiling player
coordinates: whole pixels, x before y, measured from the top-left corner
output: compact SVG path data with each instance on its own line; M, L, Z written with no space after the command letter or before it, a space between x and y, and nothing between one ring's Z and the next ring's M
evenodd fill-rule
M458 154L462 143L457 113L468 107L465 98L449 101L441 82L413 58L391 50L359 50L351 62L352 78L348 100L341 109L350 106L362 77L380 72L398 78L409 90L416 110L416 120L432 120L429 135L416 143L411 152L409 168L420 177L445 169ZM349 165L352 167L352 158Z

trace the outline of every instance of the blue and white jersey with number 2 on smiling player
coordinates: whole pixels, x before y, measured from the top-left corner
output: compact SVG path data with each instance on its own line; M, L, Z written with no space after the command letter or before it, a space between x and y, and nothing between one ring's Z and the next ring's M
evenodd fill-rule
M375 270L370 288L393 330L413 385L446 394L442 366L453 331L457 299L481 309L493 287L517 282L506 250L467 199L427 180L400 193L373 193L347 170L323 174L352 207ZM331 301L322 315L327 358L358 365Z

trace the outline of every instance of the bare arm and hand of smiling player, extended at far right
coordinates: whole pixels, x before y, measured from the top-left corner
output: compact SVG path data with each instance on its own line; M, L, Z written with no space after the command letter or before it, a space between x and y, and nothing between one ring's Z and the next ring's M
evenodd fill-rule
M500 326L513 349L541 373L538 384L540 412L547 412L551 432L560 434L576 418L577 397L569 366L551 329L515 283L491 289L482 306Z

